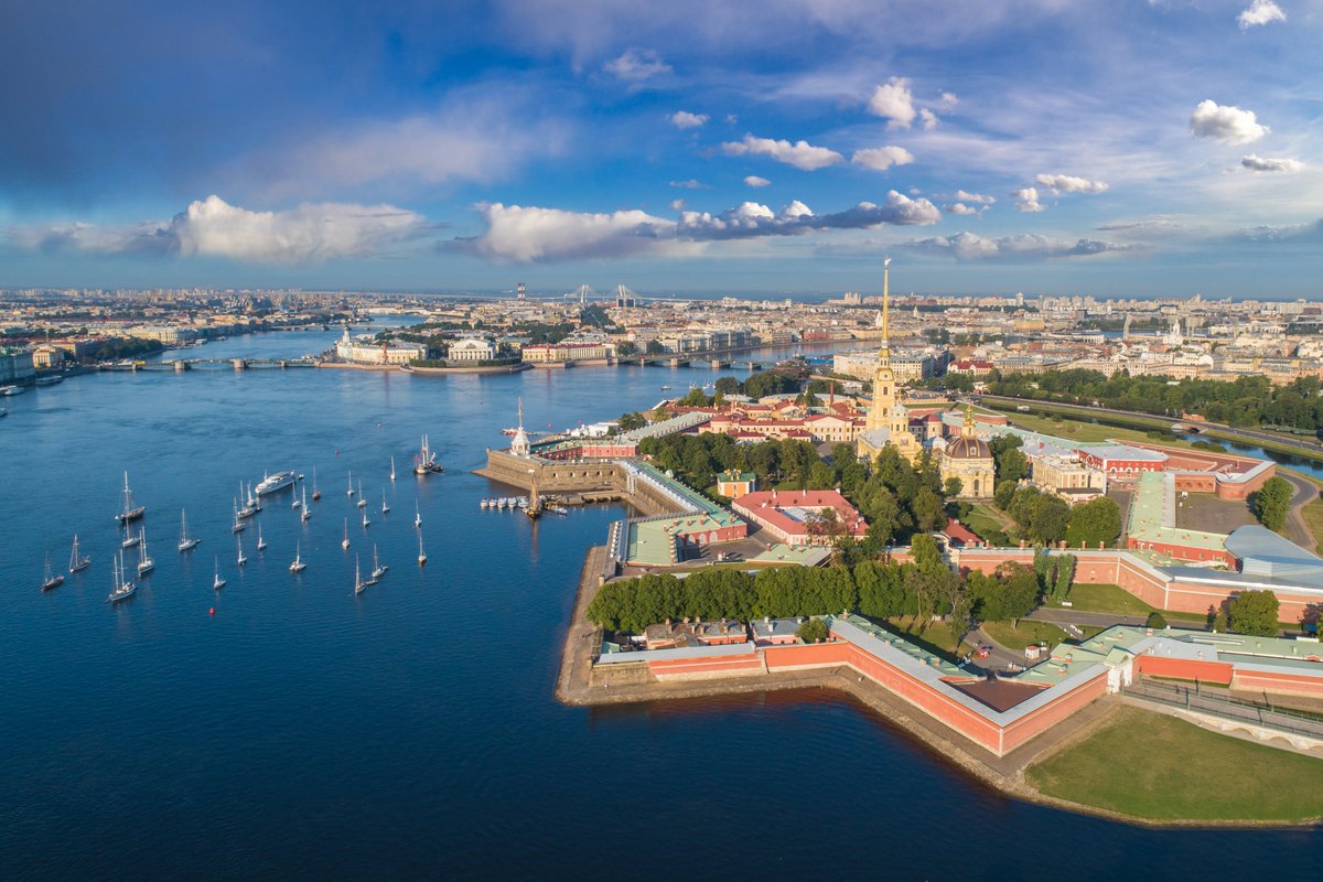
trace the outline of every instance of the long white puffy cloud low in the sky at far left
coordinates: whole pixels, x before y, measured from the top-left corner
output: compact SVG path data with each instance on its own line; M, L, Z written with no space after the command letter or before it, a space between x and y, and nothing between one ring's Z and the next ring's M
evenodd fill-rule
M253 212L209 196L169 221L123 227L74 222L11 230L9 238L42 250L315 263L370 257L426 229L421 214L392 205L318 202L283 212Z

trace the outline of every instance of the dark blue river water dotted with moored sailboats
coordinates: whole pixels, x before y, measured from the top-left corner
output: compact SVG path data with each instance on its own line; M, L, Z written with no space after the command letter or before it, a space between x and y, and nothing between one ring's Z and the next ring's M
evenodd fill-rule
M188 354L298 357L335 336ZM7 399L0 877L1315 877L1318 830L1158 832L1021 804L832 693L558 705L582 555L619 512L484 512L499 488L470 469L505 442L519 398L529 427L564 427L714 376L212 369ZM407 471L425 432L443 476ZM288 492L267 497L270 546L242 533L239 569L237 484L282 468L308 484L316 468L324 496L307 524ZM111 607L126 469L157 569ZM184 555L181 506L202 538ZM44 555L62 567L74 532L93 566L42 594ZM373 545L390 571L355 596Z

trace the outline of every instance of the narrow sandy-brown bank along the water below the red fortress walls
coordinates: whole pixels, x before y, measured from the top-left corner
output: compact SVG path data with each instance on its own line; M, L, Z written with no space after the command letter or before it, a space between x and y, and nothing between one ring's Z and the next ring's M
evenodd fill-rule
M1107 729L1123 706L1117 697L1103 697L1072 714L1023 747L998 758L979 744L918 711L876 681L849 666L757 672L730 677L662 682L651 677L646 662L611 665L609 672L594 668L593 660L602 645L602 629L587 620L587 607L601 587L599 574L606 558L605 546L593 546L583 558L573 612L565 632L561 669L556 681L556 698L579 707L684 701L716 696L761 694L767 692L832 689L873 711L890 726L922 743L945 762L957 766L983 785L1005 796L1065 809L1081 815L1154 828L1262 828L1314 825L1315 821L1237 821L1150 819L1127 815L1106 805L1061 799L1039 791L1027 778L1032 766L1043 766L1057 754L1084 743L1097 731ZM1225 737L1222 737L1225 738ZM1176 758L1179 762L1179 758Z

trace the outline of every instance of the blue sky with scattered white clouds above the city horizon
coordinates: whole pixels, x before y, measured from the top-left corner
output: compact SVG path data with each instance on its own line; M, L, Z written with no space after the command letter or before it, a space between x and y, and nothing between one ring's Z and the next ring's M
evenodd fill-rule
M1323 299L1323 0L9 4L0 286Z

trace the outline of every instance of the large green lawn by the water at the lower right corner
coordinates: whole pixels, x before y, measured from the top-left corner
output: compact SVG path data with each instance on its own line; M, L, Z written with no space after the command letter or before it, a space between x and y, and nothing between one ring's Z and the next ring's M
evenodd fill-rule
M1025 770L1041 793L1131 817L1304 821L1323 817L1323 759L1218 735L1136 707Z

